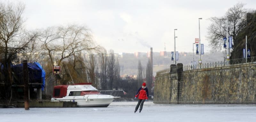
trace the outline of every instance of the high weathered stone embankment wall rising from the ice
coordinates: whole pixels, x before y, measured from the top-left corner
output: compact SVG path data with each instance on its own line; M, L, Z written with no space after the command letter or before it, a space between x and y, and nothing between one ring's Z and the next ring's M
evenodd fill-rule
M178 103L178 80L156 76L154 103ZM181 73L179 103L256 103L256 64Z

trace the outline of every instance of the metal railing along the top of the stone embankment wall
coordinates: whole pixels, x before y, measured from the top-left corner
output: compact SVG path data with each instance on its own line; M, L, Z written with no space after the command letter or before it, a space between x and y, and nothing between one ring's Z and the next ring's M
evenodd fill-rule
M239 59L232 59L227 61L218 61L218 62L211 62L211 63L204 63L204 64L197 64L197 65L185 65L183 66L183 71L192 71L198 69L208 69L208 68L217 68L217 67L224 67L224 66L234 66L234 65L245 65L245 64L256 64L256 57L248 57L246 58L239 58ZM156 72L156 76L165 75L170 72L170 68L160 70Z

